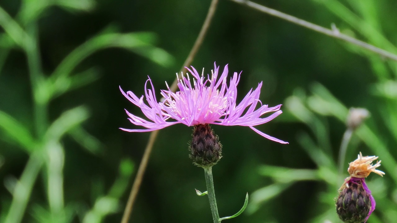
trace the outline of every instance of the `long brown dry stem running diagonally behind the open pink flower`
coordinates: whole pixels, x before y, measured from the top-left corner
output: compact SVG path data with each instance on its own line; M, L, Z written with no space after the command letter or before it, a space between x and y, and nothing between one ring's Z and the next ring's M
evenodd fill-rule
M212 0L205 21L201 27L200 33L197 36L196 42L193 45L193 48L191 49L189 56L187 56L185 63L183 63L183 66L181 68L182 72L185 72L186 69L185 67L189 66L190 63L193 61L193 58L196 56L197 51L200 48L204 40L204 37L208 31L208 28L210 27L210 23L212 21L212 18L214 17L214 13L217 5L218 5L218 0ZM174 80L170 89L172 91L175 91L177 89L177 79ZM129 198L127 201L127 205L125 206L123 218L121 219L121 223L127 223L129 221L133 209L133 204L135 202L139 188L141 186L143 175L145 174L146 166L150 157L150 153L152 152L154 141L157 138L157 135L158 135L158 130L152 131L150 133L148 144L146 145L145 152L142 157L142 161L139 164L137 176L135 177L135 181L132 185L131 192L129 194Z

